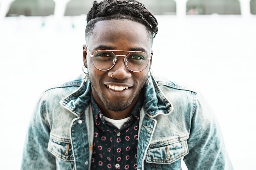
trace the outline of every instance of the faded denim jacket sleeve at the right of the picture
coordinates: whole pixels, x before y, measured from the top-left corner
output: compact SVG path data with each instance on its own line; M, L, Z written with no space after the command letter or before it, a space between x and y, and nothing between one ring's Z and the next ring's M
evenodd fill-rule
M233 170L216 117L200 95L194 103L188 146L184 162L189 170Z

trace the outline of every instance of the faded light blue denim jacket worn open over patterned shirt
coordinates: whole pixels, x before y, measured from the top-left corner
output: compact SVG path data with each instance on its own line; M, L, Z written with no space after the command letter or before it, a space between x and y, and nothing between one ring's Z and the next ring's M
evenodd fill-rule
M232 170L218 122L192 90L150 78L144 86L138 170ZM88 170L94 120L90 81L83 78L43 93L29 125L22 170Z

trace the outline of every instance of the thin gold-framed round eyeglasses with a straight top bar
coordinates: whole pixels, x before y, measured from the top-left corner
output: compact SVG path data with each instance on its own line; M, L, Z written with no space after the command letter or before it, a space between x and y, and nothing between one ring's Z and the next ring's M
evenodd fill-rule
M115 51L128 52L128 55L115 55ZM122 50L98 50L93 54L88 52L92 57L93 65L100 71L108 71L113 68L117 62L117 57L124 57L126 67L132 72L143 71L150 61L150 57L142 51L122 51Z

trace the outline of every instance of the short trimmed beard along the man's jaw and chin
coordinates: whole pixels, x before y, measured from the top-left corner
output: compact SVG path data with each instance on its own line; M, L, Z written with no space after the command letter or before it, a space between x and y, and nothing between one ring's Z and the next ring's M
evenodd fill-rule
M112 102L112 101L109 101L108 99L106 99L105 95L100 94L96 90L95 86L97 86L97 84L94 81L94 79L91 79L90 74L89 74L89 79L90 79L92 88L94 89L94 91L97 94L97 96L99 97L99 99L101 99L104 106L108 110L114 111L114 112L119 112L119 111L123 111L123 110L127 109L131 105L132 101L141 93L141 89L143 88L143 86L146 82L146 79L145 79L141 84L139 84L138 93L133 93L132 96L128 100L126 100L126 101L116 100L115 102Z

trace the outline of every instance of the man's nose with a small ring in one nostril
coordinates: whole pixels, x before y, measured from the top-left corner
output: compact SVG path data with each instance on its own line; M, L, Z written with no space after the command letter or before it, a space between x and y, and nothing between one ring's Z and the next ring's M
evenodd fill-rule
M113 68L109 71L109 75L113 73L112 77L117 79L127 79L132 77L130 70L125 65L125 58L124 60L121 59L122 57L117 57L117 62Z

